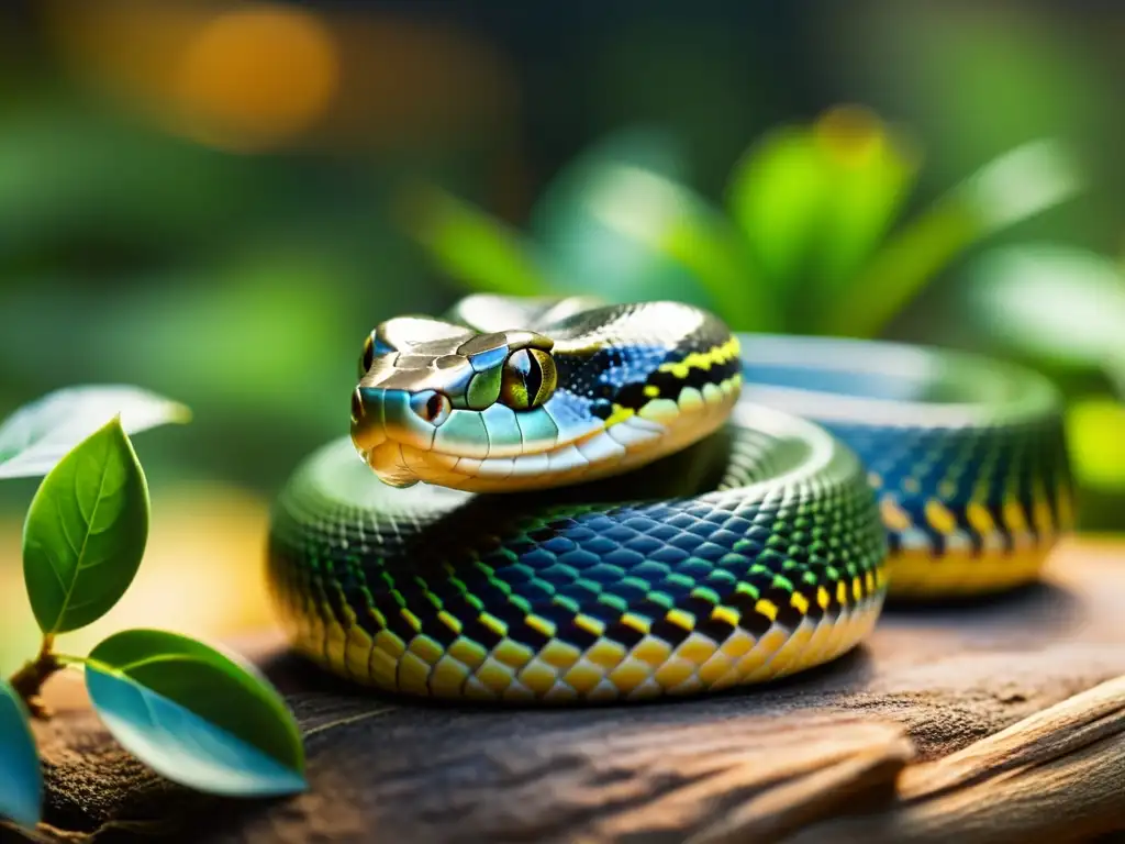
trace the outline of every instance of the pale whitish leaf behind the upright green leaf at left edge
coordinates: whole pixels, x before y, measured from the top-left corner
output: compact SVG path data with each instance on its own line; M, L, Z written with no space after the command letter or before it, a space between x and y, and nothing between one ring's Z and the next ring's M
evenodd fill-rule
M0 425L0 478L45 475L63 455L112 416L138 433L168 422L187 422L182 404L122 385L68 387L24 405Z

